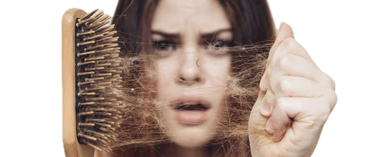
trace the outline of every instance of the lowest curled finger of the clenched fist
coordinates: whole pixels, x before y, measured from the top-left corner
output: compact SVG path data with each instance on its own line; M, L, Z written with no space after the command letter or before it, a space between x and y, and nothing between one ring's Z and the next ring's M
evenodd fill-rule
M273 133L274 141L279 141L287 131L287 124L293 120L293 130L313 134L328 119L330 105L323 98L281 97L266 124L266 130ZM272 123L271 123L272 122ZM301 134L300 136L305 136Z

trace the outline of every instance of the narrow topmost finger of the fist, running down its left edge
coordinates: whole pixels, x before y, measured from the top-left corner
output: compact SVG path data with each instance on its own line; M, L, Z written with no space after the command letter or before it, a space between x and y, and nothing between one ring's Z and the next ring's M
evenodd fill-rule
M266 70L265 73L263 74L261 78L261 83L259 84L259 87L261 88L262 91L267 91L268 88L268 82L270 78L270 72L271 72L271 67L270 62L271 59L273 58L274 52L276 51L277 47L284 41L286 38L294 38L293 36L293 30L291 26L289 26L287 23L282 22L279 27L279 32L276 36L276 40L273 44L273 46L270 49L270 53L268 53L268 58L267 58L267 64L266 64Z

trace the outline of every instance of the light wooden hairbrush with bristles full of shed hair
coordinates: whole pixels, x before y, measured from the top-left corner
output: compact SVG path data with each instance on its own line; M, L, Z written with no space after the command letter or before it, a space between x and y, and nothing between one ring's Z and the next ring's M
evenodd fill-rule
M62 20L63 143L67 157L110 152L120 127L118 37L110 16L69 9Z

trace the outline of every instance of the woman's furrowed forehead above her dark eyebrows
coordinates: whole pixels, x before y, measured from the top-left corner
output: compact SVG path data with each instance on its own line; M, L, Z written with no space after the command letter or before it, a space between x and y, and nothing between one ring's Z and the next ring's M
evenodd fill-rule
M211 33L231 27L218 0L160 0L153 16L152 30L172 34L192 29Z

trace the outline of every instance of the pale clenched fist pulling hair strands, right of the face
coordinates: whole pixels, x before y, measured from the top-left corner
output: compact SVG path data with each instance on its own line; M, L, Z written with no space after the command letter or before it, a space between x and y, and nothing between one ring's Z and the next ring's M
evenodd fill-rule
M335 84L286 23L271 47L260 88L249 119L252 156L310 157L337 102Z

